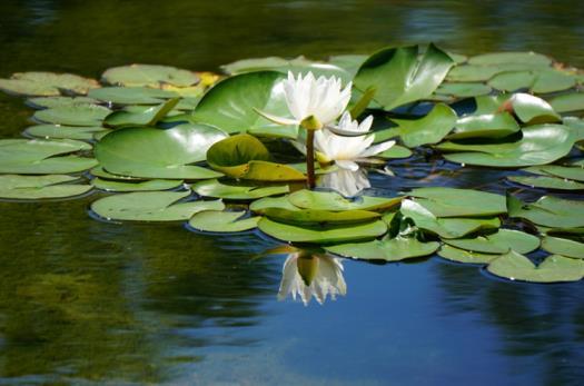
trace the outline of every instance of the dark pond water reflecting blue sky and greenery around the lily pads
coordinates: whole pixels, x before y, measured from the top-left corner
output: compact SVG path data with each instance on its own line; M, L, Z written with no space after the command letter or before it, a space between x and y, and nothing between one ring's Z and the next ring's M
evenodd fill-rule
M0 76L99 77L130 62L214 70L433 40L584 67L574 1L0 1ZM31 111L0 96L0 137ZM502 191L502 175L395 162L418 185ZM430 174L430 171L433 171ZM540 192L541 194L541 192ZM0 384L581 385L584 287L506 283L436 257L345 261L348 291L277 301L283 256L254 234L113 225L73 201L0 202Z

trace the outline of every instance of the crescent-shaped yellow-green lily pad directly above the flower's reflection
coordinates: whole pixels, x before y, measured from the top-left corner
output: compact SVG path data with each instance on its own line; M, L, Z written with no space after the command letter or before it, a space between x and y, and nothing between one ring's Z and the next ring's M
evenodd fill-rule
M327 226L294 226L261 218L258 228L263 232L283 241L289 243L346 243L360 239L372 239L384 235L387 226L382 220L353 225Z

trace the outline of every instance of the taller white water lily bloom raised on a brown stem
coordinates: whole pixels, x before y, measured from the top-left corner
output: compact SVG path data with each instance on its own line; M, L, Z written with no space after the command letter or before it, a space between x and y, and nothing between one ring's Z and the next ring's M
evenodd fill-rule
M306 128L320 129L334 122L350 100L352 82L342 89L340 78L337 77L315 78L313 72L308 72L305 77L299 73L295 78L288 71L288 79L284 80L283 86L286 103L294 119L258 111L279 125L303 125L308 120L309 127Z

